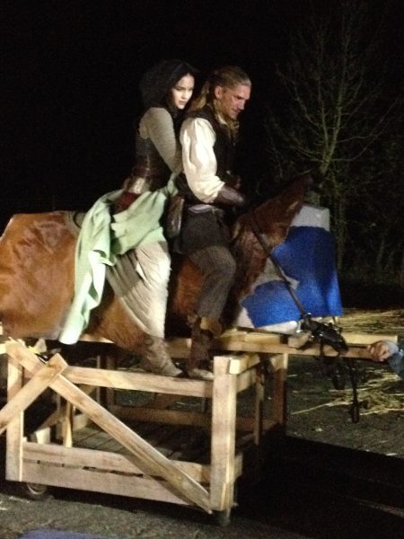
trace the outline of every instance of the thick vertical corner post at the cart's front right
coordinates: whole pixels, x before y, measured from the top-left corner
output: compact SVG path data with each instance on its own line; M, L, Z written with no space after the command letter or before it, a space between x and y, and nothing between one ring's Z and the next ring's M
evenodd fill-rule
M214 374L210 503L222 511L233 507L237 376L223 357L214 358Z

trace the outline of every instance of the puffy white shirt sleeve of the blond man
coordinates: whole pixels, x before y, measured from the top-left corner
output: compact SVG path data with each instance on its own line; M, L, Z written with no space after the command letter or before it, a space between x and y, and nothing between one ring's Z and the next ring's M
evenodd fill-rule
M180 131L180 143L189 188L202 202L213 202L224 181L216 175L215 131L210 122L201 118L186 119Z

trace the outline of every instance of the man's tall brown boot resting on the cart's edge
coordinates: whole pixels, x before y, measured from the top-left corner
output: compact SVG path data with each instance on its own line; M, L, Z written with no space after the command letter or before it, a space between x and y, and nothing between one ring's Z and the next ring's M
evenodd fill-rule
M189 378L213 380L210 367L210 349L215 336L220 335L221 326L209 318L197 318L192 324L191 348L189 353Z

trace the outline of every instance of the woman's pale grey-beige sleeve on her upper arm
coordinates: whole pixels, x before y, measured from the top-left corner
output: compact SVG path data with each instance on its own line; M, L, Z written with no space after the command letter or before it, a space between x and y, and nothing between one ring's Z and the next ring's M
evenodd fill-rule
M139 133L150 138L171 172L181 172L181 147L175 137L171 114L162 107L152 107L140 120Z

